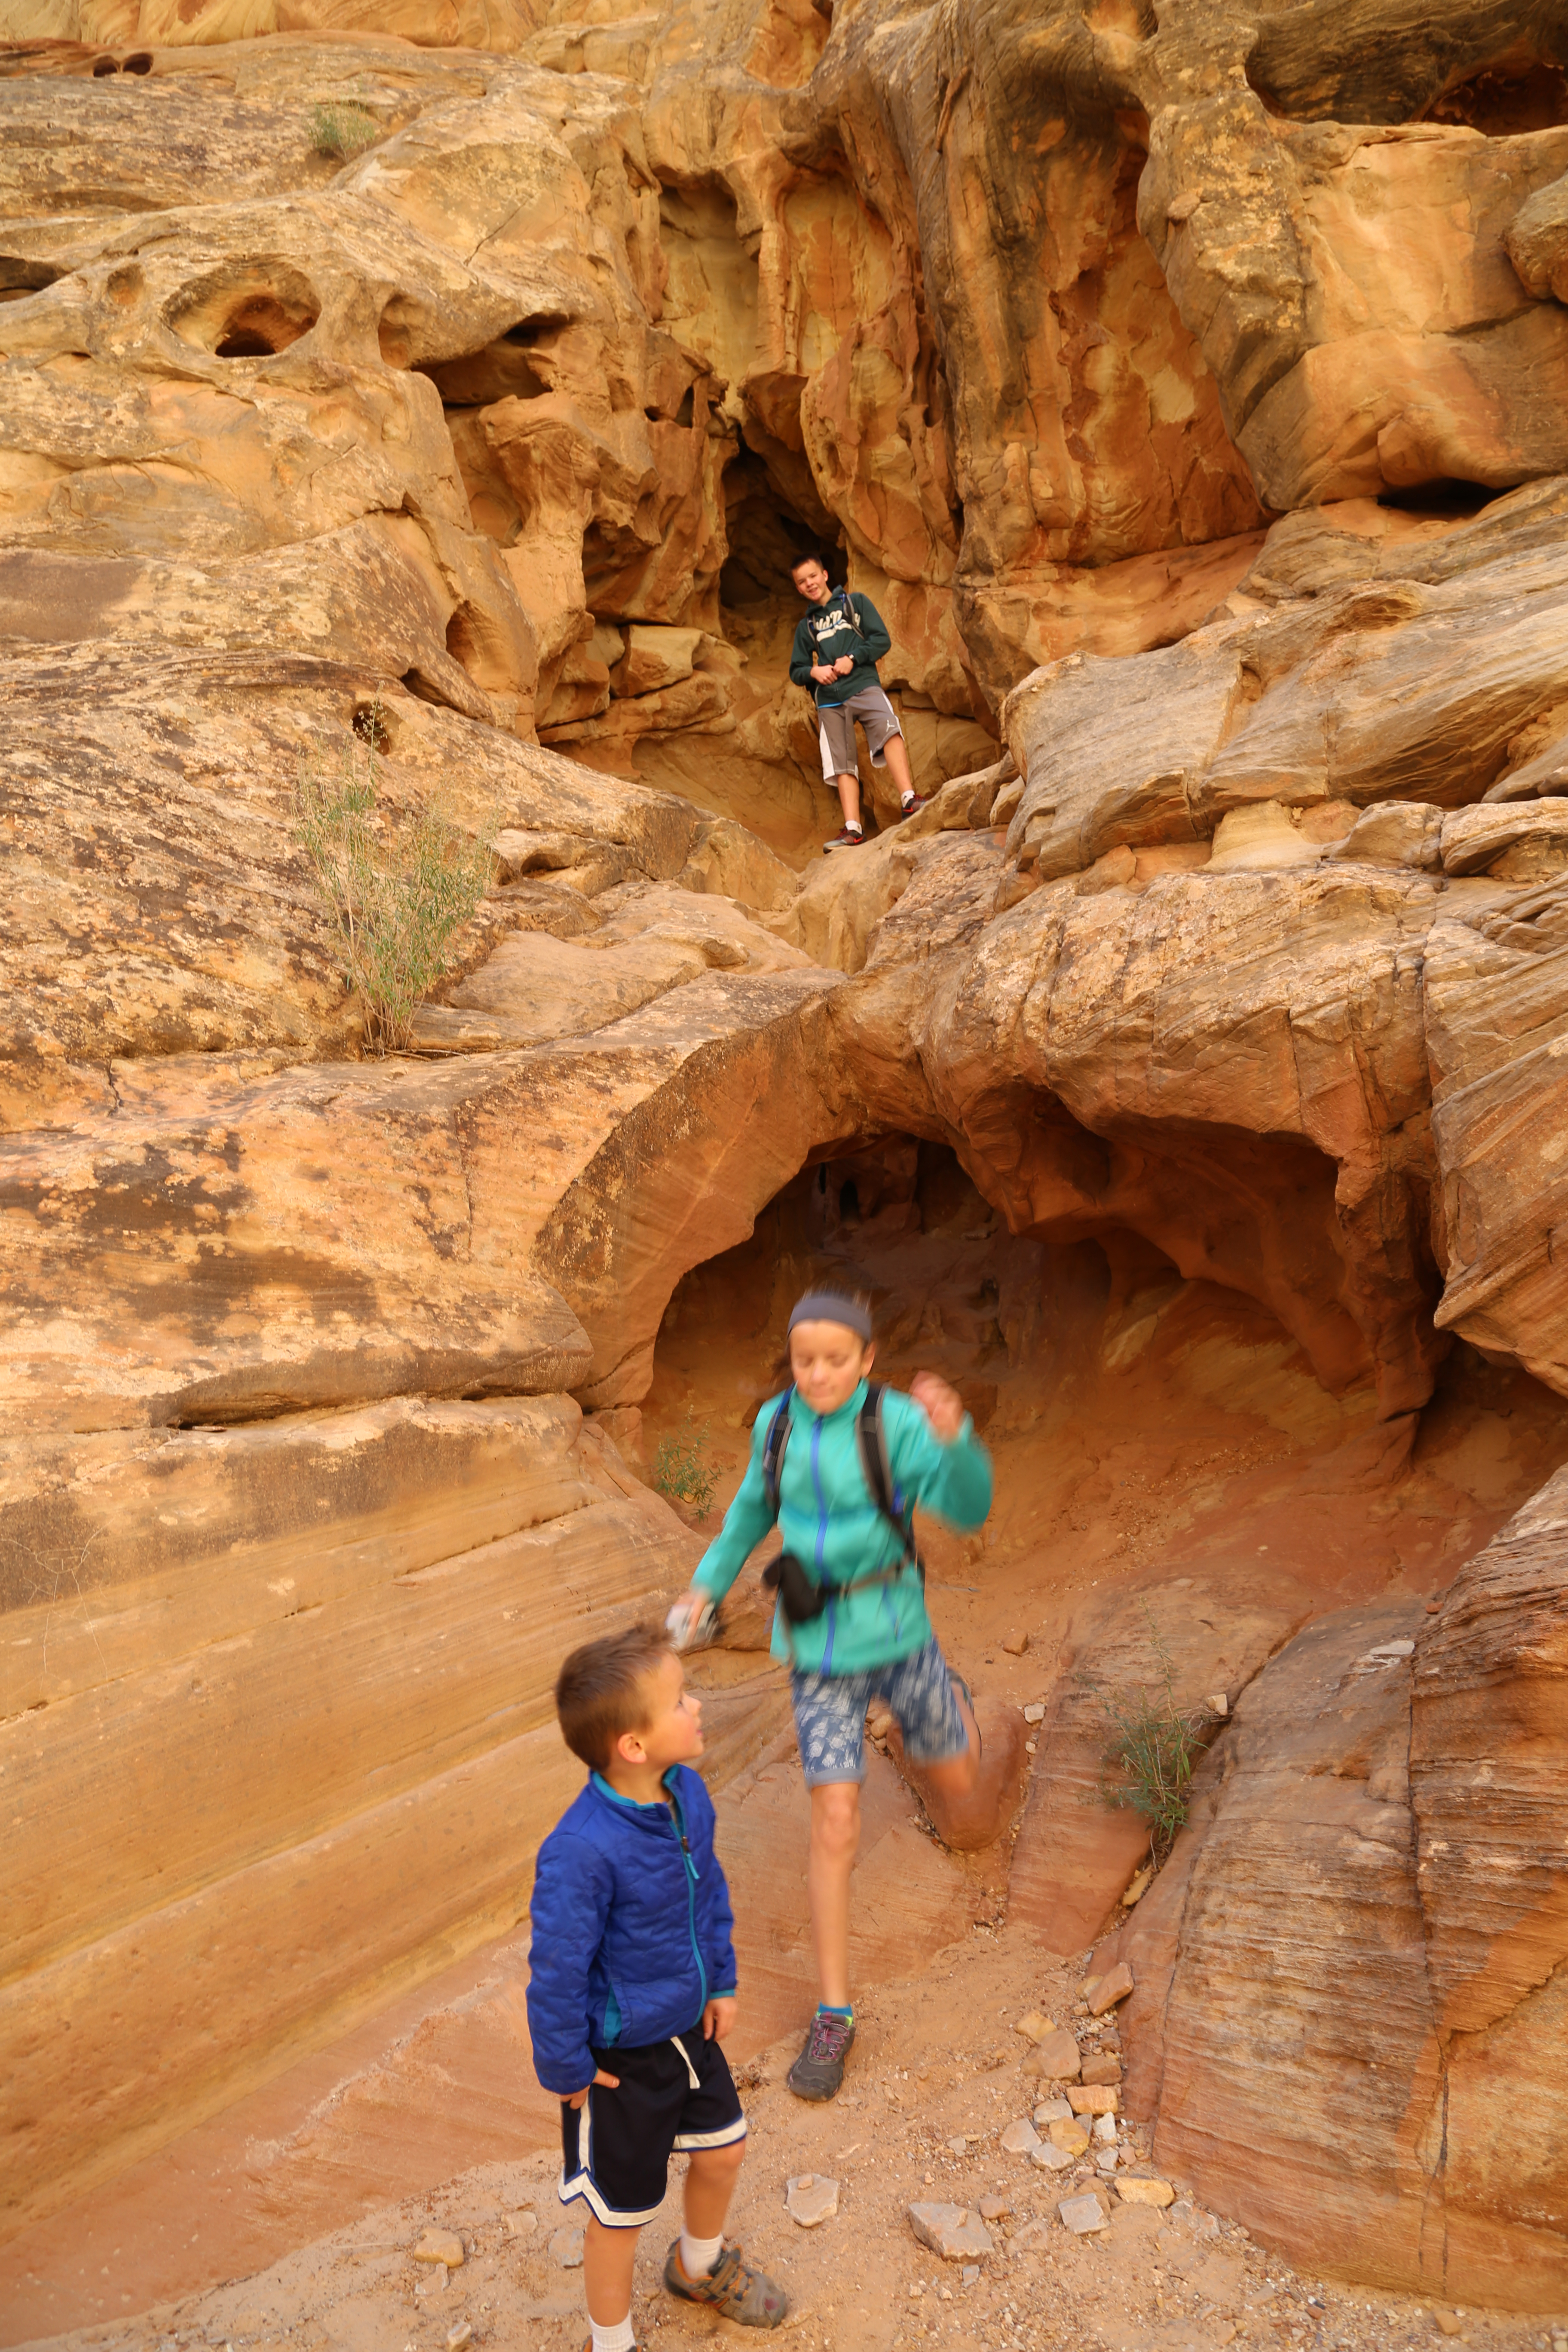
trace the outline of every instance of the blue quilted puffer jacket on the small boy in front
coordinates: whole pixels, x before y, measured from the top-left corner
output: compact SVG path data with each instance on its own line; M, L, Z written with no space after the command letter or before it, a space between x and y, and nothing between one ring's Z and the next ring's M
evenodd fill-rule
M545 2091L595 2077L590 2044L689 2034L736 1990L733 1912L712 1851L712 1797L672 1764L668 1804L635 1804L592 1773L534 1872L529 2032Z

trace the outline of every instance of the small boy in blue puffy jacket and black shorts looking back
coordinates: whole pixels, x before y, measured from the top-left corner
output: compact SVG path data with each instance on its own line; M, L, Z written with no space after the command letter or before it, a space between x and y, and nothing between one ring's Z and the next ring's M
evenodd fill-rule
M684 2150L684 2227L665 2260L682 2303L776 2328L788 2296L724 2244L745 2114L719 2042L736 2016L729 1886L712 1802L686 1769L703 1703L665 1632L635 1625L574 1649L555 1712L588 1785L538 1849L529 2032L562 2103L562 2204L583 2199L592 2343L635 2352L637 2232Z

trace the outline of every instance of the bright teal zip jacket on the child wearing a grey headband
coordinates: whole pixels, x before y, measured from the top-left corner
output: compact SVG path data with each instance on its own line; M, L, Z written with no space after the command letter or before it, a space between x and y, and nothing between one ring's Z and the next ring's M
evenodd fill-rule
M790 1444L778 1482L783 1550L795 1552L818 1585L849 1585L856 1576L891 1569L903 1541L870 1496L856 1442L865 1381L837 1414L813 1414L792 1390L788 1395ZM745 1477L693 1576L715 1602L729 1592L773 1524L762 1456L778 1402L769 1397L757 1414ZM933 1510L952 1526L980 1526L992 1505L992 1465L969 1414L959 1435L945 1446L919 1404L889 1388L882 1425L896 1494ZM842 1592L809 1625L790 1625L783 1609L773 1611L773 1656L806 1675L860 1675L875 1665L893 1665L896 1658L912 1658L929 1639L931 1618L914 1564L886 1583Z

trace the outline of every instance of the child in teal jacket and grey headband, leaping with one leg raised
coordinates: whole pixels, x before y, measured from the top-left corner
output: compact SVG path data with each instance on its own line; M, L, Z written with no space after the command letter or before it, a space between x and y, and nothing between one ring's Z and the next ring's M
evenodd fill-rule
M809 1291L797 1303L790 1315L792 1388L757 1414L745 1477L686 1595L693 1623L703 1602L729 1592L778 1519L792 1564L773 1611L771 1646L792 1668L795 1731L811 1790L806 1884L823 1987L806 2046L788 2077L799 2098L837 2093L856 2037L849 1875L860 1844L867 1700L882 1698L891 1708L905 1757L940 1795L969 1795L980 1764L969 1693L947 1672L931 1632L914 1548L867 1484L858 1418L872 1359L870 1308L860 1298ZM780 1406L790 1428L783 1458L773 1439L773 1512L766 1470ZM882 1416L893 1508L922 1503L952 1526L980 1526L992 1501L990 1461L957 1390L922 1371L912 1395L884 1392ZM802 1616L802 1606L816 1606L816 1613Z

